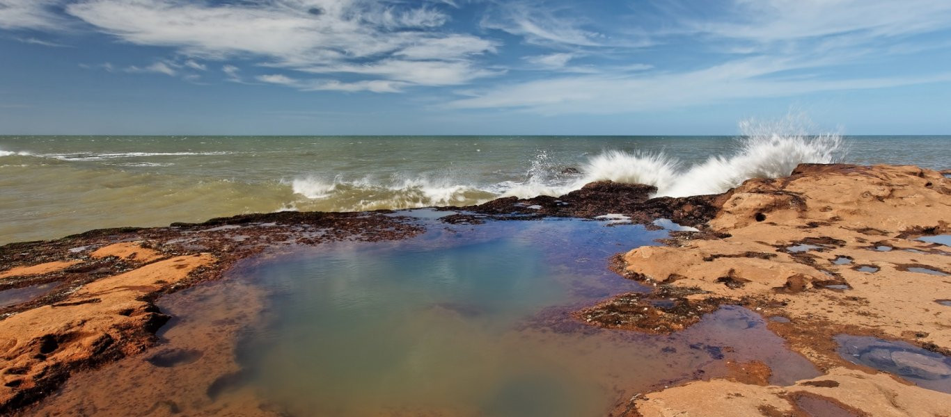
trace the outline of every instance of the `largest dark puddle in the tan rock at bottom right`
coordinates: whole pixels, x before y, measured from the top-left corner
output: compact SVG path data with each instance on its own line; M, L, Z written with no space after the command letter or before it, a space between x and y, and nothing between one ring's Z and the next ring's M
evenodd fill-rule
M894 373L926 389L951 393L951 357L906 342L840 334L839 354L845 360Z

